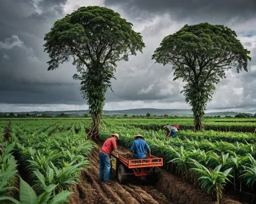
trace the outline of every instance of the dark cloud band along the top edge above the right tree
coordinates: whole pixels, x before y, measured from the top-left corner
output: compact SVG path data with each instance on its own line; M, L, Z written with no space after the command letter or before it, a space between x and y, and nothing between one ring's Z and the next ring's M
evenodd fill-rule
M255 0L105 0L104 3L106 6L120 5L131 16L154 16L166 12L178 20L203 16L222 19L239 17L239 20L244 20L255 16L256 11Z

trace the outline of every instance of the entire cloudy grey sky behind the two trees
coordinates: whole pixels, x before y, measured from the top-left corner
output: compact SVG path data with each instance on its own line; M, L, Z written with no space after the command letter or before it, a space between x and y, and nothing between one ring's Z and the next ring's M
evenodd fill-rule
M256 111L255 0L0 0L0 111L88 109L79 82L72 79L74 66L47 71L43 38L54 21L89 5L120 13L146 45L143 54L118 63L114 93L106 94L104 109L189 108L180 94L184 84L173 81L172 67L155 64L151 55L166 35L207 21L236 31L252 57L248 73L227 73L208 112Z

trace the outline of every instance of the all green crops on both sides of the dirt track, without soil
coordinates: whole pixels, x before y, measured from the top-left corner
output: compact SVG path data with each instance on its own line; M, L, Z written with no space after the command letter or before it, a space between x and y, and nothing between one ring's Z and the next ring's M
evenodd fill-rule
M162 127L172 123L180 125L181 130L177 138L166 138ZM205 119L204 124L207 130L194 132L190 130L190 118L104 118L100 140L117 132L118 145L129 148L134 135L142 134L152 154L164 158L164 169L184 183L214 197L231 192L239 194L238 199L252 200L256 119ZM70 202L81 171L91 165L89 155L96 147L87 140L90 126L91 118L0 119L4 152L0 156L0 203L4 196L8 196L9 203L18 199L17 190L9 187L19 189L22 203L31 203L26 197L29 192L37 201L47 199L35 203ZM20 186L18 176L22 178Z

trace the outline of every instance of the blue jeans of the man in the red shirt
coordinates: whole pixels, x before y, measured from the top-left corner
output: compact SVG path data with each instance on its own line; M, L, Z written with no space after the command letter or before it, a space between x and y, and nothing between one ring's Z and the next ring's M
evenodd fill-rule
M105 177L104 182L109 182L110 180L110 155L106 153L99 152L99 179L103 180L103 173L105 167Z

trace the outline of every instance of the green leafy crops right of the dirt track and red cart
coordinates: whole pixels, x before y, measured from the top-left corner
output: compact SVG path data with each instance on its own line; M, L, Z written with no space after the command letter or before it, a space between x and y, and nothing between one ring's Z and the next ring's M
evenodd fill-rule
M216 197L230 189L254 196L255 133L180 130L177 138L169 139L165 137L164 130L138 128L142 122L145 120L121 120L118 125L116 120L104 120L101 139L118 132L120 143L129 148L134 135L142 134L152 153L164 158L165 169L180 176L184 182ZM147 120L146 123L162 127L167 121Z

